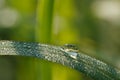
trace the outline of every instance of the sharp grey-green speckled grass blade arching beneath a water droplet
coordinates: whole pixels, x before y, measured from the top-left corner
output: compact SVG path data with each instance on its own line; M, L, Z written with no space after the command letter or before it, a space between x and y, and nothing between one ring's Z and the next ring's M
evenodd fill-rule
M120 80L119 69L83 53L66 51L62 47L38 43L0 41L0 55L36 57L71 67L94 80ZM47 68L49 68L49 66L47 66ZM29 77L26 78L28 79ZM38 77L35 78L39 79Z

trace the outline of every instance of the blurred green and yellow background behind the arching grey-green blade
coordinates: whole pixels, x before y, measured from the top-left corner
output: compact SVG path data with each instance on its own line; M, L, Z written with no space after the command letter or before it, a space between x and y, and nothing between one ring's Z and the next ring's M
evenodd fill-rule
M61 46L120 68L120 0L0 0L0 39ZM0 56L0 80L90 80L30 57Z

